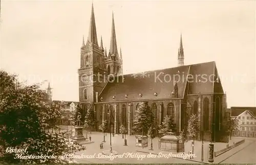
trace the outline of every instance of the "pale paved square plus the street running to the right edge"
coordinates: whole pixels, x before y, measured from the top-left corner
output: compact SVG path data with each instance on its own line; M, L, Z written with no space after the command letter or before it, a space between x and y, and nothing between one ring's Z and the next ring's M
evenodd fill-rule
M150 147L146 147L144 149L140 147L135 146L135 137L134 136L128 136L126 135L127 139L127 145L123 146L124 139L122 138L122 135L115 135L112 136L112 149L118 152L118 155L121 155L123 153L134 153L137 155L145 155L145 158L142 160L138 160L137 157L134 158L127 158L124 155L122 158L114 158L111 160L110 158L99 158L98 154L101 154L104 150L110 149L110 134L106 133L105 141L106 143L103 143L104 149L100 149L99 144L103 140L103 133L101 132L92 132L92 134L88 133L88 136L91 135L92 140L94 141L93 144L87 144L85 151L77 152L77 155L93 155L94 158L81 158L76 159L79 163L202 163L201 162L201 143L199 141L196 141L195 143L195 154L196 158L191 161L189 158L187 159L181 159L181 158L157 158L158 155L156 155L156 158L150 158L147 157L150 153L153 154L159 154L160 152L163 154L169 153L166 151L160 151L158 149L158 138L153 139L153 151L149 150ZM84 136L86 136L86 133L84 131ZM238 142L239 140L242 140L243 138L239 137L232 137L232 140L230 142ZM246 138L245 143L241 144L238 147L235 147L231 149L230 151L218 156L214 157L214 163L255 163L255 138ZM148 139L148 145L150 146L151 140ZM208 143L205 142L205 146L207 146ZM226 144L216 143L215 145L215 151L225 148ZM187 142L185 145L185 151L187 152L189 148L191 147L190 142ZM175 153L173 153L175 154ZM208 147L204 147L204 163L208 163Z

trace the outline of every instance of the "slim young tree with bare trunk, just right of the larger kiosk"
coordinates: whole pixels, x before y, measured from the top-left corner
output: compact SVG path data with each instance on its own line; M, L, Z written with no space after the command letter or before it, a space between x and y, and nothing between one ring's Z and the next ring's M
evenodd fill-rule
M195 144L195 138L197 136L197 132L199 132L199 119L198 116L192 114L188 120L188 127L187 127L189 137L193 138L193 143ZM194 154L194 147L193 147L193 154Z

